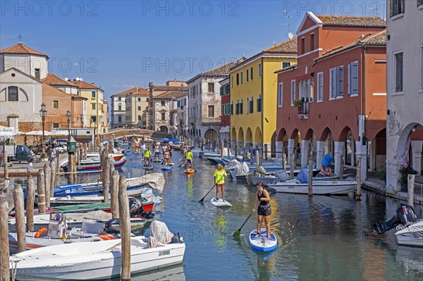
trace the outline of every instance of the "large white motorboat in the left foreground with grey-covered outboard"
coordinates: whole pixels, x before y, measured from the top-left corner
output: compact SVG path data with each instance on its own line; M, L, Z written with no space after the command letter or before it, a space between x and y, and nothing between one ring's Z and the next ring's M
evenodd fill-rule
M179 237L156 237L130 239L131 274L183 262ZM121 254L121 239L60 244L12 255L9 267L17 280L102 280L121 275Z

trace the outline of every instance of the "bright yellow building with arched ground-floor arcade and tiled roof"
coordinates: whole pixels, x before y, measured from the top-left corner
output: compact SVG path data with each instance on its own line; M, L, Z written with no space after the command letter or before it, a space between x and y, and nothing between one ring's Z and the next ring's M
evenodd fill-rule
M275 44L231 68L231 142L276 151L276 70L296 63L297 38ZM270 156L270 154L268 155Z

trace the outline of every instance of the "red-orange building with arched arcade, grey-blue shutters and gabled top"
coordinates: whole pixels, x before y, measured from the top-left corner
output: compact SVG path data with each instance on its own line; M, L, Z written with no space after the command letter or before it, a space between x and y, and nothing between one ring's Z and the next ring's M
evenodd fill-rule
M314 15L298 28L298 63L278 73L276 150L288 160L300 145L317 167L332 154L334 173L362 161L366 171L386 158L386 22L373 16ZM281 157L279 154L277 157Z

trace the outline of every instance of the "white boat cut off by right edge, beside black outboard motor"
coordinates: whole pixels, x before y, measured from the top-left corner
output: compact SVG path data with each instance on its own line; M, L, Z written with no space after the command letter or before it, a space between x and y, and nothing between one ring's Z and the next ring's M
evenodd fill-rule
M423 219L408 225L397 225L395 236L398 245L423 247Z

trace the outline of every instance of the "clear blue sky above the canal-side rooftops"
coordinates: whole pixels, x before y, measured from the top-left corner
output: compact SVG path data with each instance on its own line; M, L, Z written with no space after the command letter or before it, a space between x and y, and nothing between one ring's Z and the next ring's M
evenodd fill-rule
M0 1L0 49L21 34L49 56L49 72L83 77L109 97L149 81L188 80L283 42L286 11L295 34L306 11L384 18L385 2Z

